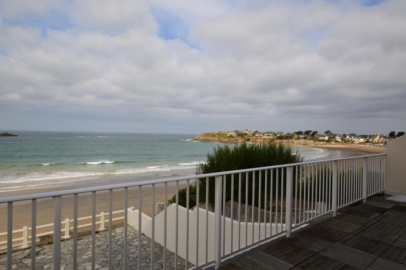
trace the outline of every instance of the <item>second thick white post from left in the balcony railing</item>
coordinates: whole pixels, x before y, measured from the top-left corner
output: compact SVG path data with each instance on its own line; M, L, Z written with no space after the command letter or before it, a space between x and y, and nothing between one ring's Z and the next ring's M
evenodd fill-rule
M222 177L216 176L216 193L215 193L215 242L214 242L214 264L215 269L219 269L221 265L221 182ZM206 206L207 207L207 206Z

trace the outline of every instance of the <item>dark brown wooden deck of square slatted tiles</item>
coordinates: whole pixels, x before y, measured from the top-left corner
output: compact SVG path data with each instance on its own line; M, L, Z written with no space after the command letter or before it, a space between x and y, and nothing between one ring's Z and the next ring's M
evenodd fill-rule
M405 269L406 205L377 196L223 266L238 269Z

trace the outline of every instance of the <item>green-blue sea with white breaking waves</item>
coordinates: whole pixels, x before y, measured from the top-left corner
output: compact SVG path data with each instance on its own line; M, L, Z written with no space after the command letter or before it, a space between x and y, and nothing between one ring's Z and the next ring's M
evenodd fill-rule
M4 131L0 137L0 194L6 191L194 175L218 143L198 134ZM292 147L305 160L328 151Z

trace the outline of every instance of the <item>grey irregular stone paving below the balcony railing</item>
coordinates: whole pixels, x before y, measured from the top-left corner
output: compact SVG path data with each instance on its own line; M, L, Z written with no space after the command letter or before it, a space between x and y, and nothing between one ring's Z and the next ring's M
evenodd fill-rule
M112 230L112 269L123 268L123 228ZM128 227L127 232L127 268L138 268L138 231ZM151 269L151 238L142 236L143 244L141 246L141 269ZM78 270L91 269L91 243L92 236L85 235L78 238ZM163 246L154 243L155 248L155 269L163 268ZM61 243L61 270L72 269L72 251L73 240L68 239ZM52 269L52 245L37 246L36 269ZM189 267L193 266L189 264ZM31 250L21 250L13 252L12 269L30 269L31 267ZM108 231L101 231L96 234L96 262L95 268L99 270L108 269ZM0 255L0 270L7 268L7 255ZM175 268L175 254L171 251L166 252L166 269ZM185 268L185 260L178 256L179 270Z

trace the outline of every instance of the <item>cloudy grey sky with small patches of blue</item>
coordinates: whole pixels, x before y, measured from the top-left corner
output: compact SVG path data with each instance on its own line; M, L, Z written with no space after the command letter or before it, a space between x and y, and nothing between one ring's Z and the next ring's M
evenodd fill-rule
M406 130L404 0L2 0L0 131Z

